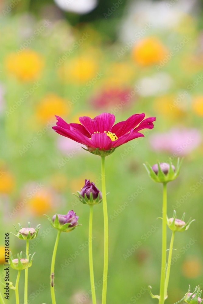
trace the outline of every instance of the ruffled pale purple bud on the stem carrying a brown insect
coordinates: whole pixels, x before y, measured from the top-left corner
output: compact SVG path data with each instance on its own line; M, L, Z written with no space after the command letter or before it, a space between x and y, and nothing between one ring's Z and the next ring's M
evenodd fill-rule
M47 215L45 214L45 216ZM52 220L49 216L47 216L47 219L50 221L51 225L61 232L69 232L75 229L77 226L80 226L78 224L78 218L79 216L77 216L73 210L68 211L66 215L55 214L52 217Z

